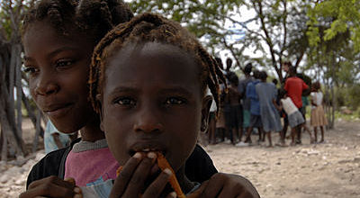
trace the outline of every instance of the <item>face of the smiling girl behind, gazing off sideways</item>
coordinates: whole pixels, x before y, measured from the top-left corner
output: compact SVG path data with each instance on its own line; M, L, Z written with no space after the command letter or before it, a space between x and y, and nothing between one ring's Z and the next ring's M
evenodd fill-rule
M95 117L87 100L94 46L80 34L69 34L59 34L44 20L32 23L23 37L32 98L62 132L79 130Z

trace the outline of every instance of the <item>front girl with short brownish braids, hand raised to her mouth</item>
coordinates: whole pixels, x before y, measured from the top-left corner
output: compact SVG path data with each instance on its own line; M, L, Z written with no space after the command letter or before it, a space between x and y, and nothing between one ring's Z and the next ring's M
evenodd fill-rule
M99 42L90 67L90 99L112 155L124 165L110 184L110 197L184 197L166 185L174 174L189 197L259 197L249 182L199 184L184 173L199 132L208 127L206 89L219 105L220 81L225 83L218 64L199 41L157 14L140 14ZM158 170L157 153L174 172ZM85 191L101 188L95 186Z

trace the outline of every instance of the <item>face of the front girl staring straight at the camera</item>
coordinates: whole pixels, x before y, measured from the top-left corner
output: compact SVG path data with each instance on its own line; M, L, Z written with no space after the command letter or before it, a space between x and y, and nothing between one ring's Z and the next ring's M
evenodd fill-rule
M103 79L102 129L120 164L137 151L162 152L177 171L207 121L194 59L172 45L128 44L109 61Z

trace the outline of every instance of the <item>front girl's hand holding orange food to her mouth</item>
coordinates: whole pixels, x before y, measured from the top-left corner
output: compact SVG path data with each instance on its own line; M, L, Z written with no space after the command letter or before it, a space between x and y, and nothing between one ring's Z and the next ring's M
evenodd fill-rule
M157 169L152 170L155 167L156 158L157 154L154 152L149 152L147 156L136 153L131 157L125 166L122 167L120 175L115 179L109 197L139 198L139 194L142 193L148 176L151 175L152 172L157 171ZM157 178L148 185L145 192L141 195L141 198L159 197L170 175L172 175L172 172L169 169L162 171L157 175ZM166 197L176 197L176 194L169 193Z

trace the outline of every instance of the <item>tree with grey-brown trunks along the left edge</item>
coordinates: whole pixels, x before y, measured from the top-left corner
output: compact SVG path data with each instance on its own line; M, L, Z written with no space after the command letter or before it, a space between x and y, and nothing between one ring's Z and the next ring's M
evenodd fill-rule
M26 2L26 4L24 3ZM27 153L22 134L22 103L33 117L23 92L21 22L27 5L33 1L9 0L0 3L0 123L2 160L7 160L10 145L16 156ZM32 114L31 114L32 113Z

